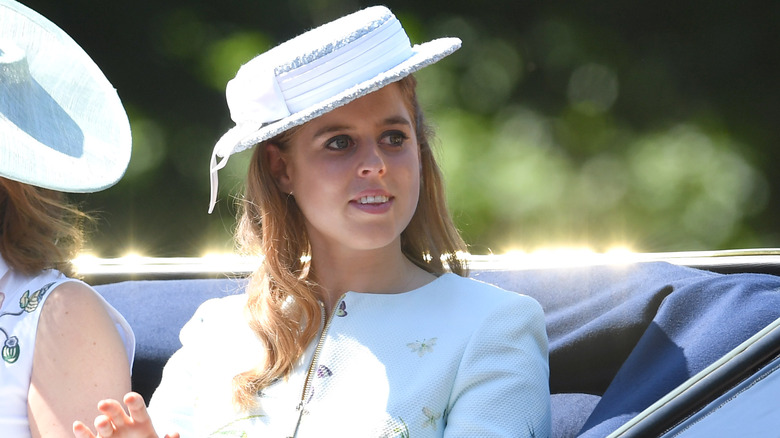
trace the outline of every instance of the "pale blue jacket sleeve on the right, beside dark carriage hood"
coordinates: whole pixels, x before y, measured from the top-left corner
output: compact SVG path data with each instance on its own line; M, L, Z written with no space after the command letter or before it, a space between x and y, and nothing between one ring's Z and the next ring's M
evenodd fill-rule
M548 437L550 389L541 306L513 294L474 331L453 385L444 437Z

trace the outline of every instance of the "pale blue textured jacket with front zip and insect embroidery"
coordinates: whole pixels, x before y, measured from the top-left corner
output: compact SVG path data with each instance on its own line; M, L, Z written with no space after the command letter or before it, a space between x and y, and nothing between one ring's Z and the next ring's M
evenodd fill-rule
M527 296L453 274L402 294L347 293L316 357L315 342L256 411L236 413L232 377L263 351L245 299L210 300L182 330L150 405L159 432L292 436L300 419L298 437L550 434L544 317Z

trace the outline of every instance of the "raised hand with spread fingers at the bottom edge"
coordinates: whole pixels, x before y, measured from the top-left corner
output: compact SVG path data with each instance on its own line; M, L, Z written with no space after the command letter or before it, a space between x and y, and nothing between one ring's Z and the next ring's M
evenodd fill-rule
M98 403L101 415L95 418L97 434L93 434L84 423L76 421L73 423L73 435L76 438L158 438L143 397L129 392L124 402L127 412L117 400L102 400ZM179 438L179 434L167 434L165 438Z

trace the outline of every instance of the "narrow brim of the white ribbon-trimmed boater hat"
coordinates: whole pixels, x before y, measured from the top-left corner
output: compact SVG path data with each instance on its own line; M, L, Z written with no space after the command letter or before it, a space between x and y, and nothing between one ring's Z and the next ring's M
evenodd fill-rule
M302 125L335 108L346 105L347 103L379 90L388 84L399 81L421 68L438 62L447 55L450 55L458 50L460 45L461 41L458 38L439 38L427 43L415 45L412 47L412 55L403 62L371 79L349 87L333 97L322 101L319 105L314 105L303 111L298 111L283 119L268 123L259 129L253 126L237 125L223 136L223 138L233 137L236 139L235 147L226 155L249 149L290 128Z

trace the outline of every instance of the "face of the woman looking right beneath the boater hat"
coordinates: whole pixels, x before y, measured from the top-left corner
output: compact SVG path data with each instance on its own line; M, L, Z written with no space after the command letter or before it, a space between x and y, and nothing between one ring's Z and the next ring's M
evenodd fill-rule
M397 244L417 207L420 148L398 84L300 127L271 169L306 218L315 252Z

